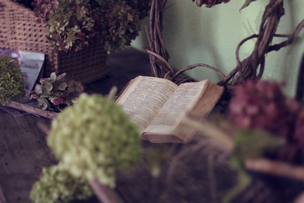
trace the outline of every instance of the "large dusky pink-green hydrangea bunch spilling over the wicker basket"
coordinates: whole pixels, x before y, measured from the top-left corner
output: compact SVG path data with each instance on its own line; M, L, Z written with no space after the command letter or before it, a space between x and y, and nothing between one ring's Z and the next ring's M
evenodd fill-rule
M150 10L145 0L33 0L32 5L59 51L78 51L96 42L110 52L123 49L138 36Z

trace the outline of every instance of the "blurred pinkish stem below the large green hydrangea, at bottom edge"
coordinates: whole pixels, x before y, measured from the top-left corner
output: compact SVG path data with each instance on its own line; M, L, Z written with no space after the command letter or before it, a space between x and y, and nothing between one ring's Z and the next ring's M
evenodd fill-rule
M117 195L117 193L108 186L102 185L98 180L93 179L89 181L97 198L102 203L124 203L124 201Z

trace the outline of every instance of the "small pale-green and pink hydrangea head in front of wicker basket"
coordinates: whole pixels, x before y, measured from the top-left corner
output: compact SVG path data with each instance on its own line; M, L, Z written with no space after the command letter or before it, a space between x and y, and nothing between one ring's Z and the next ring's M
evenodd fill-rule
M31 92L30 99L37 99L36 106L41 110L62 111L66 106L77 102L84 91L84 85L73 79L67 80L66 73L56 75L52 72L49 78L41 78Z

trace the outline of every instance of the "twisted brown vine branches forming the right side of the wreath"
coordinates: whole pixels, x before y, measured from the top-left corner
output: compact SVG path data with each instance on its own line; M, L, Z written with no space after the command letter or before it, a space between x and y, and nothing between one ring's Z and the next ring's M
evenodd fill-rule
M240 42L236 50L237 66L221 82L218 83L219 85L229 87L237 85L246 79L261 79L261 76L264 72L266 54L271 51L278 51L282 47L291 44L300 30L304 27L304 20L302 20L302 22L299 23L292 34L275 34L279 20L284 14L285 12L283 8L283 1L270 0L262 17L259 34L254 34ZM288 39L279 44L270 45L273 37L288 37ZM240 61L240 46L252 38L257 38L254 46L254 51L252 54L250 54L249 57L243 61ZM257 69L259 65L260 72L257 75ZM236 75L237 73L239 74ZM230 80L231 82L228 84Z

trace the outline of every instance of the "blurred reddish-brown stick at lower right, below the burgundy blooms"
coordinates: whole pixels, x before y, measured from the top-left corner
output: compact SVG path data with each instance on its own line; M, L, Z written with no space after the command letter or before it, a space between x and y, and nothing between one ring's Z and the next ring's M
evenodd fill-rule
M303 166L292 166L285 162L271 161L268 159L247 159L245 161L245 167L248 170L288 177L304 182Z

